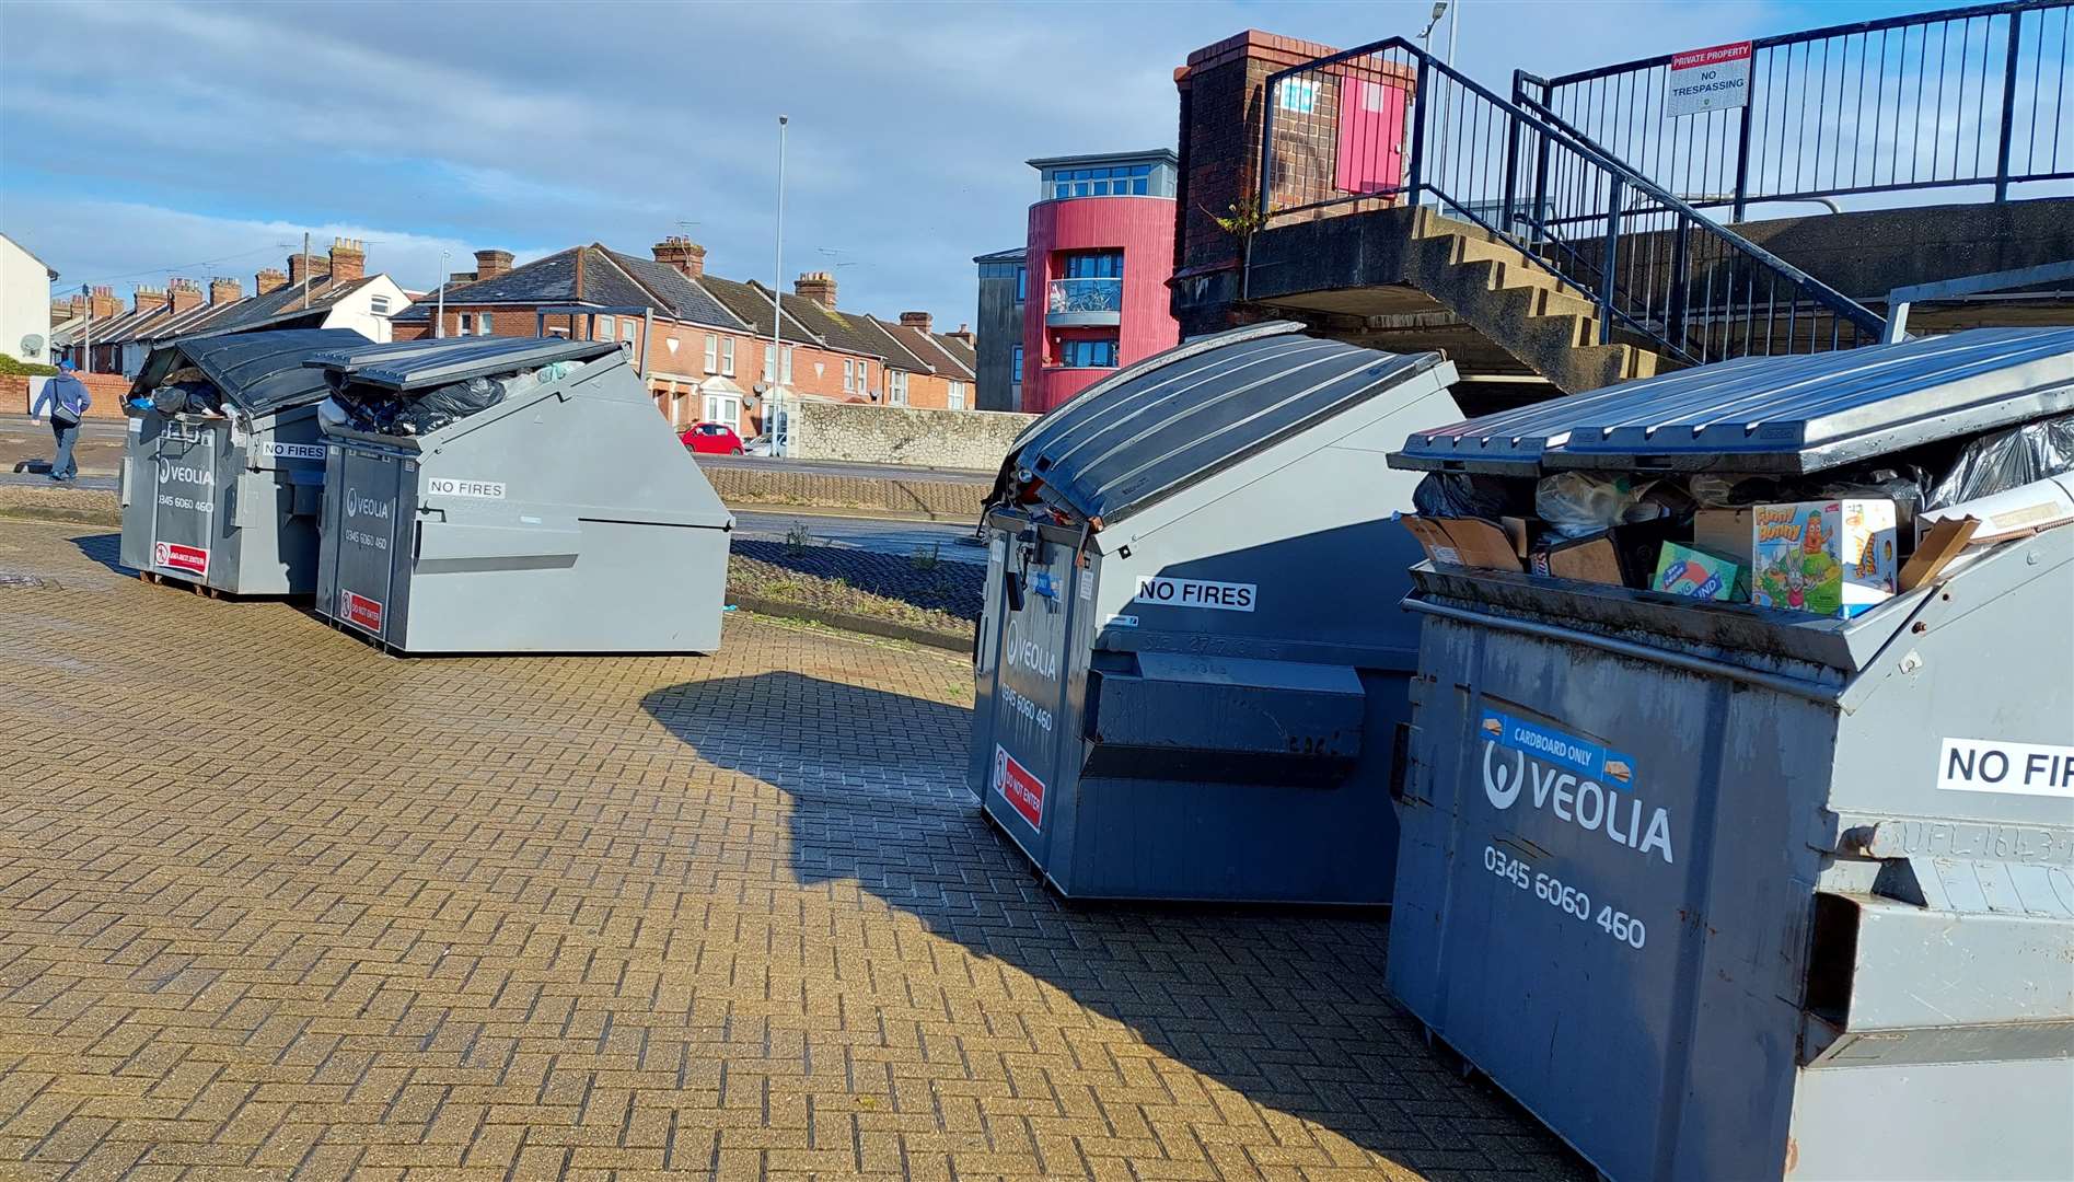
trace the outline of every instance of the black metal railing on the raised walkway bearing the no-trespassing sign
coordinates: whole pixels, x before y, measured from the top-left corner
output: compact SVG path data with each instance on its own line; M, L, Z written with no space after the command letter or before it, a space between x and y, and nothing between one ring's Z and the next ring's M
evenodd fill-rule
M1514 102L1699 207L2074 178L2074 0L2012 0L1757 37L1746 102L1692 114L1674 54L1553 79Z

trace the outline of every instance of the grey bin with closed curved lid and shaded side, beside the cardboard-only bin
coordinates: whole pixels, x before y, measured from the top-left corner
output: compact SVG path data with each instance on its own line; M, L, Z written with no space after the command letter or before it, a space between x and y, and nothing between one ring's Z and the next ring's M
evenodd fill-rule
M1070 898L1388 902L1412 479L1454 367L1269 323L1033 423L985 529L971 786Z

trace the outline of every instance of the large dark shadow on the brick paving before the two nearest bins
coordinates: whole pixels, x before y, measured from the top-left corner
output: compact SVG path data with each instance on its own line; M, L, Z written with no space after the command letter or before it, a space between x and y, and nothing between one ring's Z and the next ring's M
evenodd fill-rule
M790 796L801 883L854 879L1249 1101L1402 1165L1589 1176L1385 1000L1383 921L1060 904L964 786L962 707L792 672L682 682L643 705L705 761Z

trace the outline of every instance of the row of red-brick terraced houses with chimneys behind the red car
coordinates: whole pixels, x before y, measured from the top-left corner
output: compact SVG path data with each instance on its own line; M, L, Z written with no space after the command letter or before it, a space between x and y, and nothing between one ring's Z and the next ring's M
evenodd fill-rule
M772 290L705 272L705 247L684 236L651 257L604 243L570 247L525 265L510 251L477 251L473 272L448 276L440 294L394 319L398 340L419 336L531 336L618 340L647 373L655 409L676 427L728 423L761 433L767 400L809 398L892 406L971 409L975 350L969 332L931 332L927 313L900 321L836 307L836 280L809 272L776 303Z

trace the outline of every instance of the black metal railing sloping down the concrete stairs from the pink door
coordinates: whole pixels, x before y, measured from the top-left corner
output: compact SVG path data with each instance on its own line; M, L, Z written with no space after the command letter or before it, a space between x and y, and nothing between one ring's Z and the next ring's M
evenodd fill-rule
M1885 321L1421 48L1392 37L1267 79L1263 226L1431 205L1589 301L1597 340L1684 363L1821 353Z

